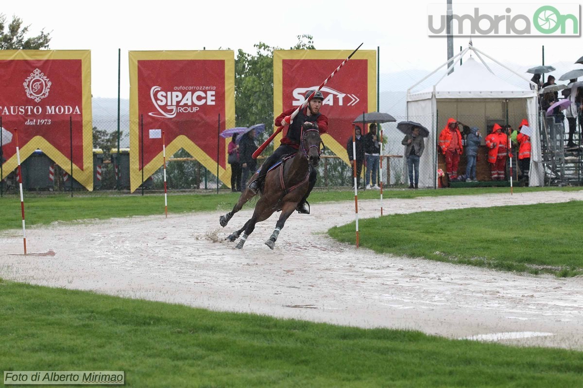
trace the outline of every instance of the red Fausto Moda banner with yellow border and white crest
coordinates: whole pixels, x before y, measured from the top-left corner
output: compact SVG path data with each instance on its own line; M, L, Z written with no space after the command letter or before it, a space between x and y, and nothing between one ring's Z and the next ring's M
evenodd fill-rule
M21 161L40 148L93 190L89 51L0 51L0 116L4 134L18 129ZM71 155L71 130L72 148ZM15 138L2 138L8 171L16 168Z

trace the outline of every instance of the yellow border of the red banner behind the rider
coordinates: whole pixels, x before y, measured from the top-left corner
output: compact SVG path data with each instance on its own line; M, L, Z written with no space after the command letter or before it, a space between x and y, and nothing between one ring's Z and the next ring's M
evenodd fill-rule
M286 107L283 106L282 93L283 93L283 67L282 61L284 59L338 59L338 65L342 63L342 60L346 59L352 50L274 50L273 51L273 117L282 113ZM359 50L351 58L352 59L366 59L368 60L368 112L375 112L377 110L377 51L375 50ZM330 69L332 73L334 69ZM338 75L335 77L342 77L342 70L339 71ZM322 79L324 81L324 79ZM328 81L329 85L333 87L334 79ZM277 127L273 126L273 131ZM283 134L279 134L273 141L275 147L278 147L279 141L281 141ZM343 144L338 143L329 134L323 134L322 140L336 156L342 158L346 164L350 165L348 160L348 155L346 154L346 147Z

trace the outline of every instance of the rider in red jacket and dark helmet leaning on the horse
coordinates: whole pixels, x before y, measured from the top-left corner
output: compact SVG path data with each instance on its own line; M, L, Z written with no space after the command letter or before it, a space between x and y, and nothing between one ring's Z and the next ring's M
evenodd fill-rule
M310 97L312 92L313 90L308 90L305 93L305 98ZM276 126L279 127L283 125L289 127L287 128L286 136L282 138L282 144L273 152L271 156L269 156L269 158L265 159L265 162L261 166L261 171L259 171L257 178L249 184L249 189L251 191L257 194L259 189L264 184L269 168L278 162L279 159L285 155L294 154L297 152L298 148L300 148L302 127L304 130L318 129L320 134L325 133L326 130L328 130L328 118L320 113L322 101L324 101L324 96L322 95L322 92L317 91L314 94L314 97L312 97L310 100L309 104L298 112L297 116L293 119L291 124L286 122L287 120L285 119L287 118L289 120L289 116L296 110L296 108L288 109L275 119ZM310 213L306 206L306 200L308 199L308 195L310 195L312 188L314 188L314 185L316 184L316 179L317 170L311 168L308 192L305 193L304 198L302 198L300 203L298 203L298 212L303 214Z

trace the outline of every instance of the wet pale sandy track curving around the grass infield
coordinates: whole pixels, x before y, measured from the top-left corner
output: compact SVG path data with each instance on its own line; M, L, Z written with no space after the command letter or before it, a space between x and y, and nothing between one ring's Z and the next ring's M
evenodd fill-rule
M571 200L583 200L583 191L385 200L384 209L412 213ZM378 201L359 202L361 218L378 216L378 209ZM222 214L55 223L27 231L29 252L46 254L27 257L20 255L21 232L3 232L0 276L220 311L583 350L581 276L517 275L357 250L325 234L354 218L352 202L294 213L274 251L264 241L279 213L256 227L243 250L223 239L251 211L238 213L224 229Z

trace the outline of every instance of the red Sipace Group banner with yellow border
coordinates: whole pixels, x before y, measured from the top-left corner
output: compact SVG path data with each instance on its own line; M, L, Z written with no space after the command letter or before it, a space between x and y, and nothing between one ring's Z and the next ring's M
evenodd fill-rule
M156 129L169 155L184 148L213 173L218 163L219 178L229 181L218 131L234 126L234 52L132 51L129 63L131 190L142 183L142 169L146 178L162 165Z

